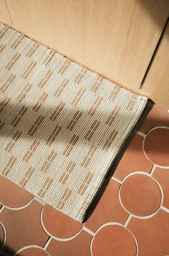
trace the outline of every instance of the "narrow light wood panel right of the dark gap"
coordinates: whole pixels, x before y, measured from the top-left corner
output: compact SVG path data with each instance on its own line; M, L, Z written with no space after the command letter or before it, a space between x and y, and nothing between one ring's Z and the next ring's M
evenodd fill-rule
M143 83L143 91L156 104L169 109L169 24Z

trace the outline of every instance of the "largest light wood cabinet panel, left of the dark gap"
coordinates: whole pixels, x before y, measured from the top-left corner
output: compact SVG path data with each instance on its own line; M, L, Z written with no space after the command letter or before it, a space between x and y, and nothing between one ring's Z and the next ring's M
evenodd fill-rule
M168 0L6 0L13 26L132 91L168 15Z

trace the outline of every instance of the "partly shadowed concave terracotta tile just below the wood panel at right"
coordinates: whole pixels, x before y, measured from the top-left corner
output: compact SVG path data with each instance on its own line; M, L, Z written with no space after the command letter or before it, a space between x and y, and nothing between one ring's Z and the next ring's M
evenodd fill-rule
M166 109L155 104L139 130L146 133L153 127L160 125L169 127L169 113Z

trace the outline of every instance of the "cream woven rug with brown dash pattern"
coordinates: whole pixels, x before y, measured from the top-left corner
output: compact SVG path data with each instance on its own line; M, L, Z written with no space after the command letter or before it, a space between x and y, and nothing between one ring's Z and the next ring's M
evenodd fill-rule
M0 24L0 174L77 221L146 102Z

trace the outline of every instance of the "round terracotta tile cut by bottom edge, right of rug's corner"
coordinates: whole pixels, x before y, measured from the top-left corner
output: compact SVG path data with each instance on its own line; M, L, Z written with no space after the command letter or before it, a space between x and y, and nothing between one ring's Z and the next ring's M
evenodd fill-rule
M132 234L121 225L107 224L99 229L92 241L92 256L135 256L136 244Z

